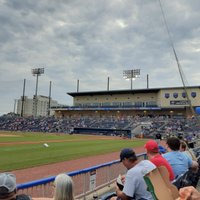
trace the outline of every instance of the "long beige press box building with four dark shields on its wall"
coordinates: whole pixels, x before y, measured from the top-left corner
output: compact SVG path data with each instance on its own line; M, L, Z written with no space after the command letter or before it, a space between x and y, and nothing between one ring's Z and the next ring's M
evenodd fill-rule
M200 106L200 86L69 92L73 106L54 107L57 117L109 115L193 115ZM188 96L188 98L187 98ZM189 103L189 101L191 103Z

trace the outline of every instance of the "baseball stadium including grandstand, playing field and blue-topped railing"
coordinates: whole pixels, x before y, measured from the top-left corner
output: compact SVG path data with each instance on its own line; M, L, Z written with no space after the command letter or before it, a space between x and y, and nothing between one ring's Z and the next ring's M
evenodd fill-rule
M59 173L69 174L78 199L113 190L126 170L120 150L146 159L144 144L171 136L198 154L200 86L68 93L71 107L52 107L53 116L0 117L1 172L16 175L18 192L52 197ZM192 105L192 109L191 109Z

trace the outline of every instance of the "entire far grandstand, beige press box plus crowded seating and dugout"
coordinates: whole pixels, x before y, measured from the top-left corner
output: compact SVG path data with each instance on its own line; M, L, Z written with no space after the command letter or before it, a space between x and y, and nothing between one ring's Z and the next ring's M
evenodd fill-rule
M188 88L193 109L199 108L200 86ZM73 106L51 107L53 116L0 117L0 130L86 133L125 138L169 134L199 136L183 87L74 92Z

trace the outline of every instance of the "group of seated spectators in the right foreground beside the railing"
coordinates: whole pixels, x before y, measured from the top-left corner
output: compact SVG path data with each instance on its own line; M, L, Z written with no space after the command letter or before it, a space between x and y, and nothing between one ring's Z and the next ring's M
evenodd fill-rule
M163 194L159 192L163 191L163 188L171 191L166 193L169 196L165 196L164 199L200 199L200 193L195 189L200 177L198 173L199 163L185 153L188 147L184 141L174 136L169 137L166 140L166 153L159 151L159 144L156 140L147 141L144 147L148 160L139 161L131 148L125 148L121 151L120 161L127 168L127 173L119 176L121 179L120 185L123 184L123 187L119 185L118 177L115 192L108 193L107 196L104 195L103 200L163 199ZM154 173L155 170L157 170L157 173ZM152 174L150 177L154 176L154 178L148 178L148 181L146 181L145 177L149 177L149 174ZM186 177L185 174L190 174L190 176ZM182 177L184 178L182 179ZM181 182L182 185L177 185L177 180L184 181ZM162 185L159 185L161 183Z

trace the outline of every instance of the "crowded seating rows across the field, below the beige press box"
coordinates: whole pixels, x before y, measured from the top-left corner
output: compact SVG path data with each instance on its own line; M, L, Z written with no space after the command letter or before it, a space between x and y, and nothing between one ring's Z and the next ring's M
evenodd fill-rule
M49 132L49 133L73 133L74 128L96 129L129 129L131 132L138 126L145 137L154 137L160 133L163 138L178 134L188 137L199 137L200 126L194 119L169 118L166 116L109 116L109 117L19 117L16 115L4 115L0 117L0 130Z

